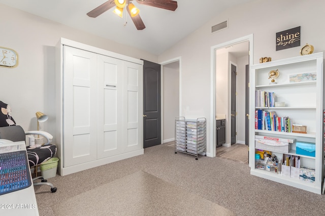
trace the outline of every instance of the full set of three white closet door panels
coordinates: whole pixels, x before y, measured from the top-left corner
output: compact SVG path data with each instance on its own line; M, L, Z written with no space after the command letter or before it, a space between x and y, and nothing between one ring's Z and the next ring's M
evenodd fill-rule
M64 166L142 148L142 65L64 46Z

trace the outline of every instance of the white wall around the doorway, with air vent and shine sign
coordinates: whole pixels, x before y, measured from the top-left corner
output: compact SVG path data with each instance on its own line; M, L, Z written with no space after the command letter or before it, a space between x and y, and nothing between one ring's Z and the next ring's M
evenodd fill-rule
M218 14L197 31L182 39L174 47L158 57L159 62L175 57L182 58L182 77L180 82L182 115L202 115L207 117L207 129L210 133L211 116L211 47L253 34L254 64L261 57L272 57L272 60L299 56L302 45L307 42L315 47L316 52L325 50L323 35L325 28L325 1L310 0L257 0ZM310 12L303 15L302 12ZM229 21L229 27L211 33L211 26ZM301 26L301 47L275 51L276 32ZM207 134L208 152L213 146L210 134Z

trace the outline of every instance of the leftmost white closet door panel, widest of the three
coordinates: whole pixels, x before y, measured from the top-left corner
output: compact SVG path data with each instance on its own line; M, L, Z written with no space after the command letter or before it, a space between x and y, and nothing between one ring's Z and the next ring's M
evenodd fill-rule
M97 54L63 47L64 166L96 159Z

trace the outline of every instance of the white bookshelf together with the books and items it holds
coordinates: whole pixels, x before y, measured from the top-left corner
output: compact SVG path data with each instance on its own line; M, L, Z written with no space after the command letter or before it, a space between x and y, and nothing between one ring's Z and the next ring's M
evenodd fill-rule
M276 79L277 84L270 84L268 74L271 70L280 72ZM249 115L255 116L249 120L249 127L253 128L249 132L251 175L321 194L325 169L322 73L323 53L251 65ZM273 107L275 102L284 102L285 106ZM272 130L268 130L270 123ZM307 134L289 133L290 123L306 126ZM293 143L290 143L289 139L294 140ZM297 146L299 143L299 154L298 150L296 151L296 143ZM315 156L300 153L301 143L314 145ZM278 161L277 173L267 169L269 163L266 163L264 158L257 157L255 160L255 154L261 154L257 149L262 150L262 154L264 151L273 150L272 157L276 156ZM265 153L264 156L267 159L270 157ZM291 158L289 165L287 158ZM261 161L266 164L265 169L261 166Z

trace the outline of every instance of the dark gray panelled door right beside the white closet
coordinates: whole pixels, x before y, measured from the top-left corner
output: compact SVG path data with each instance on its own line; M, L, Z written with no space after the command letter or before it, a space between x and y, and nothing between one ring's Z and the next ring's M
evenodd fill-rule
M160 65L143 63L143 148L161 144Z

